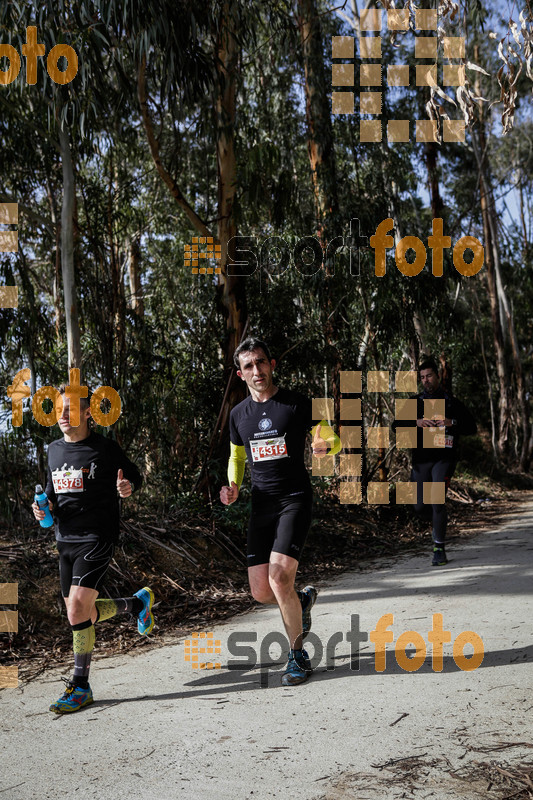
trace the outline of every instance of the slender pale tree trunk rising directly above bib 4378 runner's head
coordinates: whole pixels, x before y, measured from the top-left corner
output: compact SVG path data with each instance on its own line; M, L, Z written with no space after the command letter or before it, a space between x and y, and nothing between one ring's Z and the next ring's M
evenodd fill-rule
M65 299L67 325L68 367L81 368L80 326L76 301L74 272L74 205L75 183L69 136L64 127L59 128L59 146L63 167L63 201L61 206L61 272Z

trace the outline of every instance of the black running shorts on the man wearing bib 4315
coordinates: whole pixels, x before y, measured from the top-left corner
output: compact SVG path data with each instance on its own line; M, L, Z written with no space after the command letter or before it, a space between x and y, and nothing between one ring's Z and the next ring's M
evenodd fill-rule
M300 559L311 526L313 495L309 491L292 495L254 497L248 525L248 566L268 564L270 553Z

